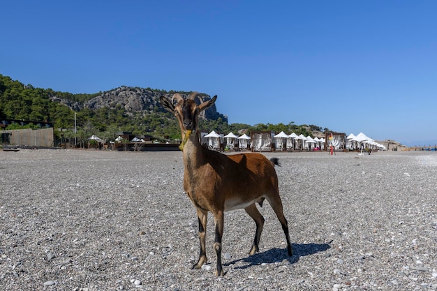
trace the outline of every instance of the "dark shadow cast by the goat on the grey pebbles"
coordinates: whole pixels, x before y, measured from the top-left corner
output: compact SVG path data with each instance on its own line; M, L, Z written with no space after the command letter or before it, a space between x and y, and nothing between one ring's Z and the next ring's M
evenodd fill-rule
M258 266L262 263L272 264L275 262L282 262L283 260L288 260L289 264L295 264L299 261L300 257L306 255L313 255L315 253L320 253L329 250L331 246L327 244L292 244L293 255L291 257L287 254L286 248L272 248L262 253L255 253L254 255L249 255L246 258L241 258L238 260L233 260L232 262L227 262L223 264L224 266L229 266L237 262L246 262L244 266L235 267L235 269L247 269L252 266Z

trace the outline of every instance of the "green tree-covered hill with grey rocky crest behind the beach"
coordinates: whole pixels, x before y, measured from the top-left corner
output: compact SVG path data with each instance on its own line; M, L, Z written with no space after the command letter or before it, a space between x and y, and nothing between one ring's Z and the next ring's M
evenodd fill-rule
M22 84L8 76L0 75L0 122L3 119L52 122L54 128L73 128L76 114L77 135L108 135L129 131L134 135L152 135L179 138L179 126L172 114L166 112L159 97L172 96L175 91L121 86L96 94L71 94L52 89L35 88ZM189 94L191 92L179 92ZM201 94L202 100L210 96ZM200 102L200 101L199 101ZM201 117L201 130L216 130L221 133L246 130L285 131L309 135L318 126L297 126L289 124L228 124L228 118L217 111L216 105ZM9 129L14 126L8 125ZM3 126L4 127L4 126ZM327 129L327 128L325 128ZM58 132L58 130L55 130Z

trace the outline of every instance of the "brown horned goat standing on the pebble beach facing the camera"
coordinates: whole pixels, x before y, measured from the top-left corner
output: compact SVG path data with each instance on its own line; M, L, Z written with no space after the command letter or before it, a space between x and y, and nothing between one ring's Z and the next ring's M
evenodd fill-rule
M216 237L214 251L217 256L216 276L223 276L221 266L221 238L223 236L223 212L244 209L256 223L255 239L250 255L258 252L258 244L264 225L264 218L255 206L262 206L267 199L286 234L288 255L292 255L292 246L288 234L288 223L283 215L281 197L279 197L278 177L274 165L277 159L269 161L262 154L224 155L205 149L200 144L198 132L198 115L214 105L217 96L197 105L197 93L184 100L175 94L172 101L161 96L161 104L172 112L179 121L182 132L181 149L184 153L184 190L193 202L199 221L200 255L193 269L202 267L207 262L205 236L207 214L214 215Z

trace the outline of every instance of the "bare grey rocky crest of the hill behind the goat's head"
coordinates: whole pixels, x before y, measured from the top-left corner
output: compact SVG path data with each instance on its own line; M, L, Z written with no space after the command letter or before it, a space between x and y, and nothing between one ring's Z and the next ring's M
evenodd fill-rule
M110 91L105 91L102 94L91 98L84 103L75 102L71 100L66 100L59 98L57 96L52 96L50 99L67 105L72 110L78 111L84 108L89 108L91 110L100 109L102 107L117 107L121 106L126 110L126 112L137 112L137 113L147 113L147 112L165 112L159 98L161 96L166 96L167 98L172 98L173 93L162 93L160 91L153 91L151 89L145 89L140 87L126 87L121 86ZM181 94L186 97L188 94ZM211 99L207 94L199 94L196 98L198 104ZM205 112L202 112L200 118L202 119L218 119L221 117L223 120L228 120L225 115L217 112L216 105L213 105Z

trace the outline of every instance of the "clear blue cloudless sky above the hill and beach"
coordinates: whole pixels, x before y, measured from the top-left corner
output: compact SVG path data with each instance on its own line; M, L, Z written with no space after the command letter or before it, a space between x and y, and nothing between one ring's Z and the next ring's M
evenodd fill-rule
M0 73L218 95L230 123L437 142L437 1L3 1Z

